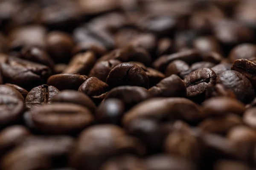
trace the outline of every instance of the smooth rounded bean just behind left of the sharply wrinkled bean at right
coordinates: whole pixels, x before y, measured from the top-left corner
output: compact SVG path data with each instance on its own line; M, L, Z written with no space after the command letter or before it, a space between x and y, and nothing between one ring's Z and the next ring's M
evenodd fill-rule
M183 62L182 60L175 60L171 62L167 68L166 68L166 77L171 76L172 74L175 74L179 76L180 78L184 79L189 73L191 72L189 65L186 62Z

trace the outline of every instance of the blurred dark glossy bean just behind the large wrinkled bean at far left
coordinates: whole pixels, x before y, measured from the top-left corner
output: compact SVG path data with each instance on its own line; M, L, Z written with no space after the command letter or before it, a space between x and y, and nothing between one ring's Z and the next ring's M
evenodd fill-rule
M39 64L46 65L53 69L54 62L49 55L41 48L37 47L25 47L21 51L22 59L27 59L32 62L38 62Z

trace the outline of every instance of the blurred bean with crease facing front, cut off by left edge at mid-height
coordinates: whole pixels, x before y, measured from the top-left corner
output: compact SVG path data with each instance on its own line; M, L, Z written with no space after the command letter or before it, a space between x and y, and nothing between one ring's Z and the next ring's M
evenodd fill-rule
M24 109L22 99L16 96L0 95L0 127L18 122Z

